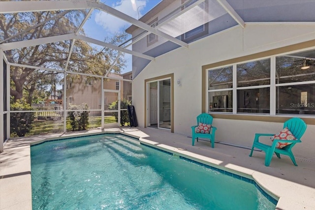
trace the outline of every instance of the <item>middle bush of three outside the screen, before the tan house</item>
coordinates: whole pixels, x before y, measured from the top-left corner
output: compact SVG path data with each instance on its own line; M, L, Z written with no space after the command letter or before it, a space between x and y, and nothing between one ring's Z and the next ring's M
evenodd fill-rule
M70 110L88 110L87 104L81 105L69 104ZM70 111L68 113L72 131L86 130L89 125L90 111Z

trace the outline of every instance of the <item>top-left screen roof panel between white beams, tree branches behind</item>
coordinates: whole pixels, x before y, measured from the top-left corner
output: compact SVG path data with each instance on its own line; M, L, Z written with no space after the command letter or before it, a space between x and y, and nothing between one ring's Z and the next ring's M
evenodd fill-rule
M1 43L74 33L87 10L59 10L2 14Z

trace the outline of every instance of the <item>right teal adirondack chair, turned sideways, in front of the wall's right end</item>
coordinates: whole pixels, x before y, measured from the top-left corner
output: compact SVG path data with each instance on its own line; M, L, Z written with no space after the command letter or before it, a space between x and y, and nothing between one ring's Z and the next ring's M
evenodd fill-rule
M294 147L294 145L296 143L301 143L301 137L303 136L306 128L307 128L307 125L306 123L300 119L300 118L291 118L287 121L284 122L284 128L287 127L291 133L293 134L293 136L296 138L296 140L274 140L272 145L269 146L269 145L265 145L265 144L262 144L258 141L258 138L260 136L273 136L275 134L268 134L268 133L256 133L255 134L255 139L254 139L254 142L252 144L252 151L254 148L258 148L260 150L263 150L265 153L266 153L266 156L265 156L265 166L269 166L270 165L270 162L271 162L271 159L272 159L272 155L273 153L275 152L277 157L280 158L280 154L285 154L285 155L288 155L293 164L295 166L297 166L296 162L295 162L295 158L294 158L294 155L291 151L291 149ZM287 145L285 146L284 148L282 149L277 149L276 148L276 145L277 143L280 142L280 143L286 143L286 142L290 142L292 144L290 145ZM252 156L252 151L251 151L251 154L250 154L250 157Z

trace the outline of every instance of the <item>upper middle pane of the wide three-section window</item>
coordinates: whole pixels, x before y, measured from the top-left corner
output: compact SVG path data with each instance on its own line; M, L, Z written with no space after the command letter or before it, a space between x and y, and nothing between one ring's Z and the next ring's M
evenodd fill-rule
M237 64L237 87L270 85L270 59Z

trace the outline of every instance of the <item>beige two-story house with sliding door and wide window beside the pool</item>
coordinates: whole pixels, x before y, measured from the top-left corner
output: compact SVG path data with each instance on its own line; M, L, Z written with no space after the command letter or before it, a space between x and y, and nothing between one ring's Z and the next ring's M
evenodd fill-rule
M315 1L227 0L232 16L220 2L199 5L204 23L184 32L175 28L180 16L163 24L189 7L184 0L162 0L140 18L189 47L152 33L132 45L155 57L132 58L139 126L167 129L169 122L171 132L189 136L205 112L218 127L216 141L251 147L254 133L277 133L285 120L300 117L308 129L295 152L314 158ZM126 32L145 33L134 25Z

